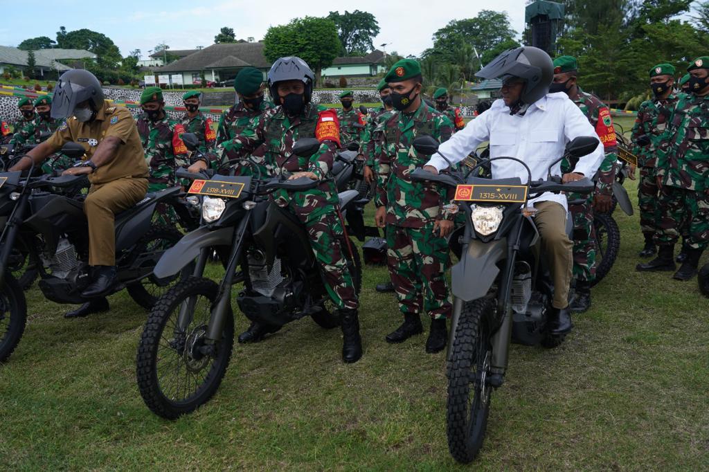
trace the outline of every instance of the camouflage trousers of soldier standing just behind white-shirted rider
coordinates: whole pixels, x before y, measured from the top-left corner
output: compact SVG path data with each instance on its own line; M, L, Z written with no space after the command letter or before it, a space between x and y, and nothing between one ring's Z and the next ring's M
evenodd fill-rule
M569 201L586 199L582 205L569 206L569 213L574 220L574 268L571 273L577 281L596 279L596 229L593 227L593 195L572 193Z

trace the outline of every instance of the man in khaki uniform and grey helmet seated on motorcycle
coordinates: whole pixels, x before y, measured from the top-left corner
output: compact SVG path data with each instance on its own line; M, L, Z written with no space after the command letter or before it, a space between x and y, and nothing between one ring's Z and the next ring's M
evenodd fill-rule
M147 192L147 164L135 120L127 108L109 106L94 74L74 69L60 77L52 103L52 118L67 118L45 142L26 154L42 162L66 142L84 146L84 162L65 175L89 176L91 189L84 201L89 220L89 265L94 280L82 292L91 300L72 316L108 310L103 298L116 279L114 215L135 206ZM21 159L11 170L29 169L30 159Z

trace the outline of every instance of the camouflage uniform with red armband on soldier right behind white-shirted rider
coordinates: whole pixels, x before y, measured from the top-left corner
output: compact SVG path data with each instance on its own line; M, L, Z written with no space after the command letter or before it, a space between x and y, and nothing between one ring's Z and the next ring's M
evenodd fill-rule
M584 113L605 147L605 159L596 173L596 193L613 196L615 181L615 162L618 160L613 119L610 118L608 107L603 105L597 96L587 94L581 87L579 93L571 98ZM573 172L577 159L564 159L562 172ZM593 228L593 196L572 193L569 201L586 199L583 205L569 206L571 218L574 218L574 279L593 281L596 278L596 231Z

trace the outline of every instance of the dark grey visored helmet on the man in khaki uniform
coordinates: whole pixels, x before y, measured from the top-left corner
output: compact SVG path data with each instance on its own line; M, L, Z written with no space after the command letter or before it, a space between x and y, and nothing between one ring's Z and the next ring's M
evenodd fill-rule
M52 97L52 118L68 118L82 101L91 100L94 111L104 106L104 90L94 74L84 69L67 70L59 78Z

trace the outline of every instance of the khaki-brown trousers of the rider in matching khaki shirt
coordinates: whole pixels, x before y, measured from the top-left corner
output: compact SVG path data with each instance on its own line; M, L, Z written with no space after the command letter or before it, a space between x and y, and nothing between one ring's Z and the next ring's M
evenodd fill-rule
M116 265L114 216L145 198L147 179L126 177L106 184L91 185L84 201L89 220L89 265Z

